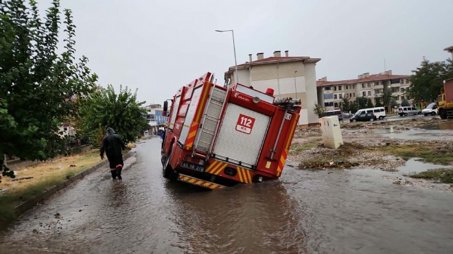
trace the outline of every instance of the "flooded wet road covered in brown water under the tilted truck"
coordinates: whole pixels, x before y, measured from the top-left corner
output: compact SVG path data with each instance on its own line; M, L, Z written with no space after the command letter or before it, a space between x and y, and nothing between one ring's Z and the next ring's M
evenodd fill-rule
M161 177L159 139L124 181L107 169L25 213L0 253L452 253L453 195L378 170L310 172L204 191Z

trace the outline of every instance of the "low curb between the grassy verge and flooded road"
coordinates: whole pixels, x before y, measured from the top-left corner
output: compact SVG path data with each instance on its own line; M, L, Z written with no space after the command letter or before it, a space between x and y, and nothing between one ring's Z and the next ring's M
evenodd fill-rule
M123 157L124 161L126 161L126 159L128 159L130 156L132 156L132 150L130 150L129 152L124 154L124 157ZM38 205L38 203L49 198L53 194L56 194L56 192L58 192L62 189L65 189L66 187L68 187L69 185L74 183L75 181L79 181L80 179L84 178L84 176L91 174L92 172L94 172L95 170L97 170L99 168L102 168L102 166L104 166L106 164L108 164L107 159L105 159L104 161L102 161L100 163L97 163L96 165L94 165L93 167L91 167L87 170L84 170L84 171L76 174L75 176L72 176L71 178L67 179L63 183L55 185L54 187L51 187L50 189L47 189L44 192L41 192L40 194L34 196L30 200L26 200L24 203L17 205L16 207L14 207L14 209L16 211L16 215L20 216L21 214L25 213L25 211L31 209L35 205Z

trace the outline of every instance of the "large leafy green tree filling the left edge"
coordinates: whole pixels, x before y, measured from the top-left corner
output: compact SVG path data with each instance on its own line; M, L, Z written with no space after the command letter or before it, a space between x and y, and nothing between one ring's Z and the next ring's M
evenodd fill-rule
M62 122L75 113L71 98L88 94L97 76L82 57L74 62L75 25L65 10L66 45L57 53L60 3L54 0L45 19L36 1L0 1L0 165L5 153L45 160L66 152L58 135Z

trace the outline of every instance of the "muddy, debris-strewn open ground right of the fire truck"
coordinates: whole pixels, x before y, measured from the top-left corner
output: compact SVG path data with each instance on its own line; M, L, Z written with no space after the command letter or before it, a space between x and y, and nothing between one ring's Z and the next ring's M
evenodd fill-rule
M311 126L297 130L288 154L288 160L304 170L327 170L345 168L371 168L397 171L411 157L421 157L432 163L452 165L453 142L450 140L426 140L413 135L404 139L380 135L382 132L404 132L413 128L436 129L450 120L436 118L408 119L397 122L378 121L342 123L344 144L338 149L323 146L321 129ZM453 125L453 124L452 124ZM450 131L450 130L448 130ZM451 130L453 135L453 129ZM450 157L450 159L448 159Z

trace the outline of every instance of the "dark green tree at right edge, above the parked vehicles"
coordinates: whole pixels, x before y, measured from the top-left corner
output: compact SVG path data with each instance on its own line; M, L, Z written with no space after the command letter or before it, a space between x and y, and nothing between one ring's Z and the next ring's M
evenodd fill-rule
M453 78L453 63L448 59L443 62L430 62L423 58L420 67L410 76L410 87L406 92L409 99L433 102L441 92L443 80Z

